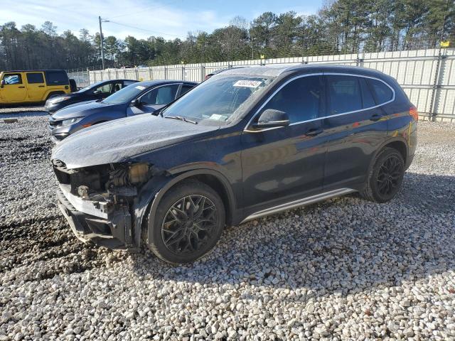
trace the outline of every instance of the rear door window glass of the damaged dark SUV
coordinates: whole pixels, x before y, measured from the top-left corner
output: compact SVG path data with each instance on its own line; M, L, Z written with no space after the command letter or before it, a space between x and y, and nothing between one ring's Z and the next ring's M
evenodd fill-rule
M329 115L363 109L360 77L328 75Z

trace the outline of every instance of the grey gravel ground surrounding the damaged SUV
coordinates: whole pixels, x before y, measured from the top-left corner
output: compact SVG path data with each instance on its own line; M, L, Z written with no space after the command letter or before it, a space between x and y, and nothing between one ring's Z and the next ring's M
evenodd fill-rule
M455 126L419 123L400 194L227 229L187 266L78 242L45 114L0 122L0 341L455 340Z

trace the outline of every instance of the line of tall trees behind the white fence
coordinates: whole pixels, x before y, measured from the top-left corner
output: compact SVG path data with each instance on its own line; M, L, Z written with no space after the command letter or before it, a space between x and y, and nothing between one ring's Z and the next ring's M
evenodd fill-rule
M107 67L414 50L437 48L441 40L455 43L453 0L326 0L314 15L265 12L250 23L237 16L226 27L189 32L184 40L103 37ZM59 35L49 21L41 28L0 26L0 70L99 65L99 33Z

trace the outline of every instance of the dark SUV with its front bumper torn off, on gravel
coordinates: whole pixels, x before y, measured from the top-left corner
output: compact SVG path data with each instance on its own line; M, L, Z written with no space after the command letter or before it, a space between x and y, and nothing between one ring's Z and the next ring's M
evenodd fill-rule
M397 194L417 143L397 82L358 67L226 70L157 116L84 129L53 149L77 237L194 261L225 225L351 192Z

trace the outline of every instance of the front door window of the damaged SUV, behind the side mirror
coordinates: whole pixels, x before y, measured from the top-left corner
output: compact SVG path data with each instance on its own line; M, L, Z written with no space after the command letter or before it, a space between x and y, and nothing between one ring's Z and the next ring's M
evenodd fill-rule
M320 117L322 80L320 76L300 77L285 85L264 109L286 112L291 123Z

